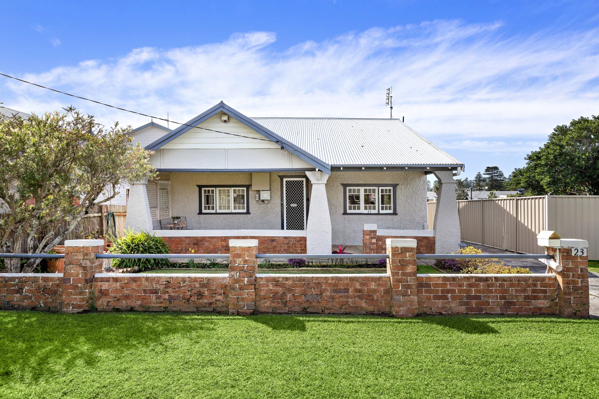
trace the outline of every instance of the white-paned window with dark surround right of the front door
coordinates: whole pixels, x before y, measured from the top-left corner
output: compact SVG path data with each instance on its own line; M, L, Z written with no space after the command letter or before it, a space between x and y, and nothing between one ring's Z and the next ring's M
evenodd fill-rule
M346 214L395 214L396 185L343 185Z

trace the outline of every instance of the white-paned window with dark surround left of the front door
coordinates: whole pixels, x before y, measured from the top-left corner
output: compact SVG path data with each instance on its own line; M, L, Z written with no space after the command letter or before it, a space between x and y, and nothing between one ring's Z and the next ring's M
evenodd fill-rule
M249 186L199 188L199 214L247 214Z

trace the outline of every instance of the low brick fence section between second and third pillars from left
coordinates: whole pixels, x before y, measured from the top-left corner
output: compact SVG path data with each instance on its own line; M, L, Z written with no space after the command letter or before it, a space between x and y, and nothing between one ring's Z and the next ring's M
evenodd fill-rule
M256 279L262 313L391 313L387 276L270 276Z

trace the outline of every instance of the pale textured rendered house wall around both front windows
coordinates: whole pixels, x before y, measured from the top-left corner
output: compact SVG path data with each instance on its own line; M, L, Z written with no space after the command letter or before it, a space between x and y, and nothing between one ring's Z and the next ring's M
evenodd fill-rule
M305 176L304 172L270 173L271 200L266 205L256 203L256 191L250 190L250 215L198 215L199 185L252 184L252 173L161 173L171 181L171 210L173 215L187 217L190 229L231 230L281 228L281 179L279 175ZM343 215L343 187L341 183L398 184L398 215ZM362 229L366 223L377 224L378 229L423 230L426 223L426 178L422 172L333 172L326 182L332 225L333 245L362 245ZM308 193L311 185L308 180ZM308 195L310 197L310 195Z

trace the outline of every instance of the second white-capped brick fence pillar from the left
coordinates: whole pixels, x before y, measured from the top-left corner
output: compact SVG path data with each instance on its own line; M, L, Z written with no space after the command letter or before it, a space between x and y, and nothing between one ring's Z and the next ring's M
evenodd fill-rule
M229 240L229 315L252 315L256 306L258 240Z

